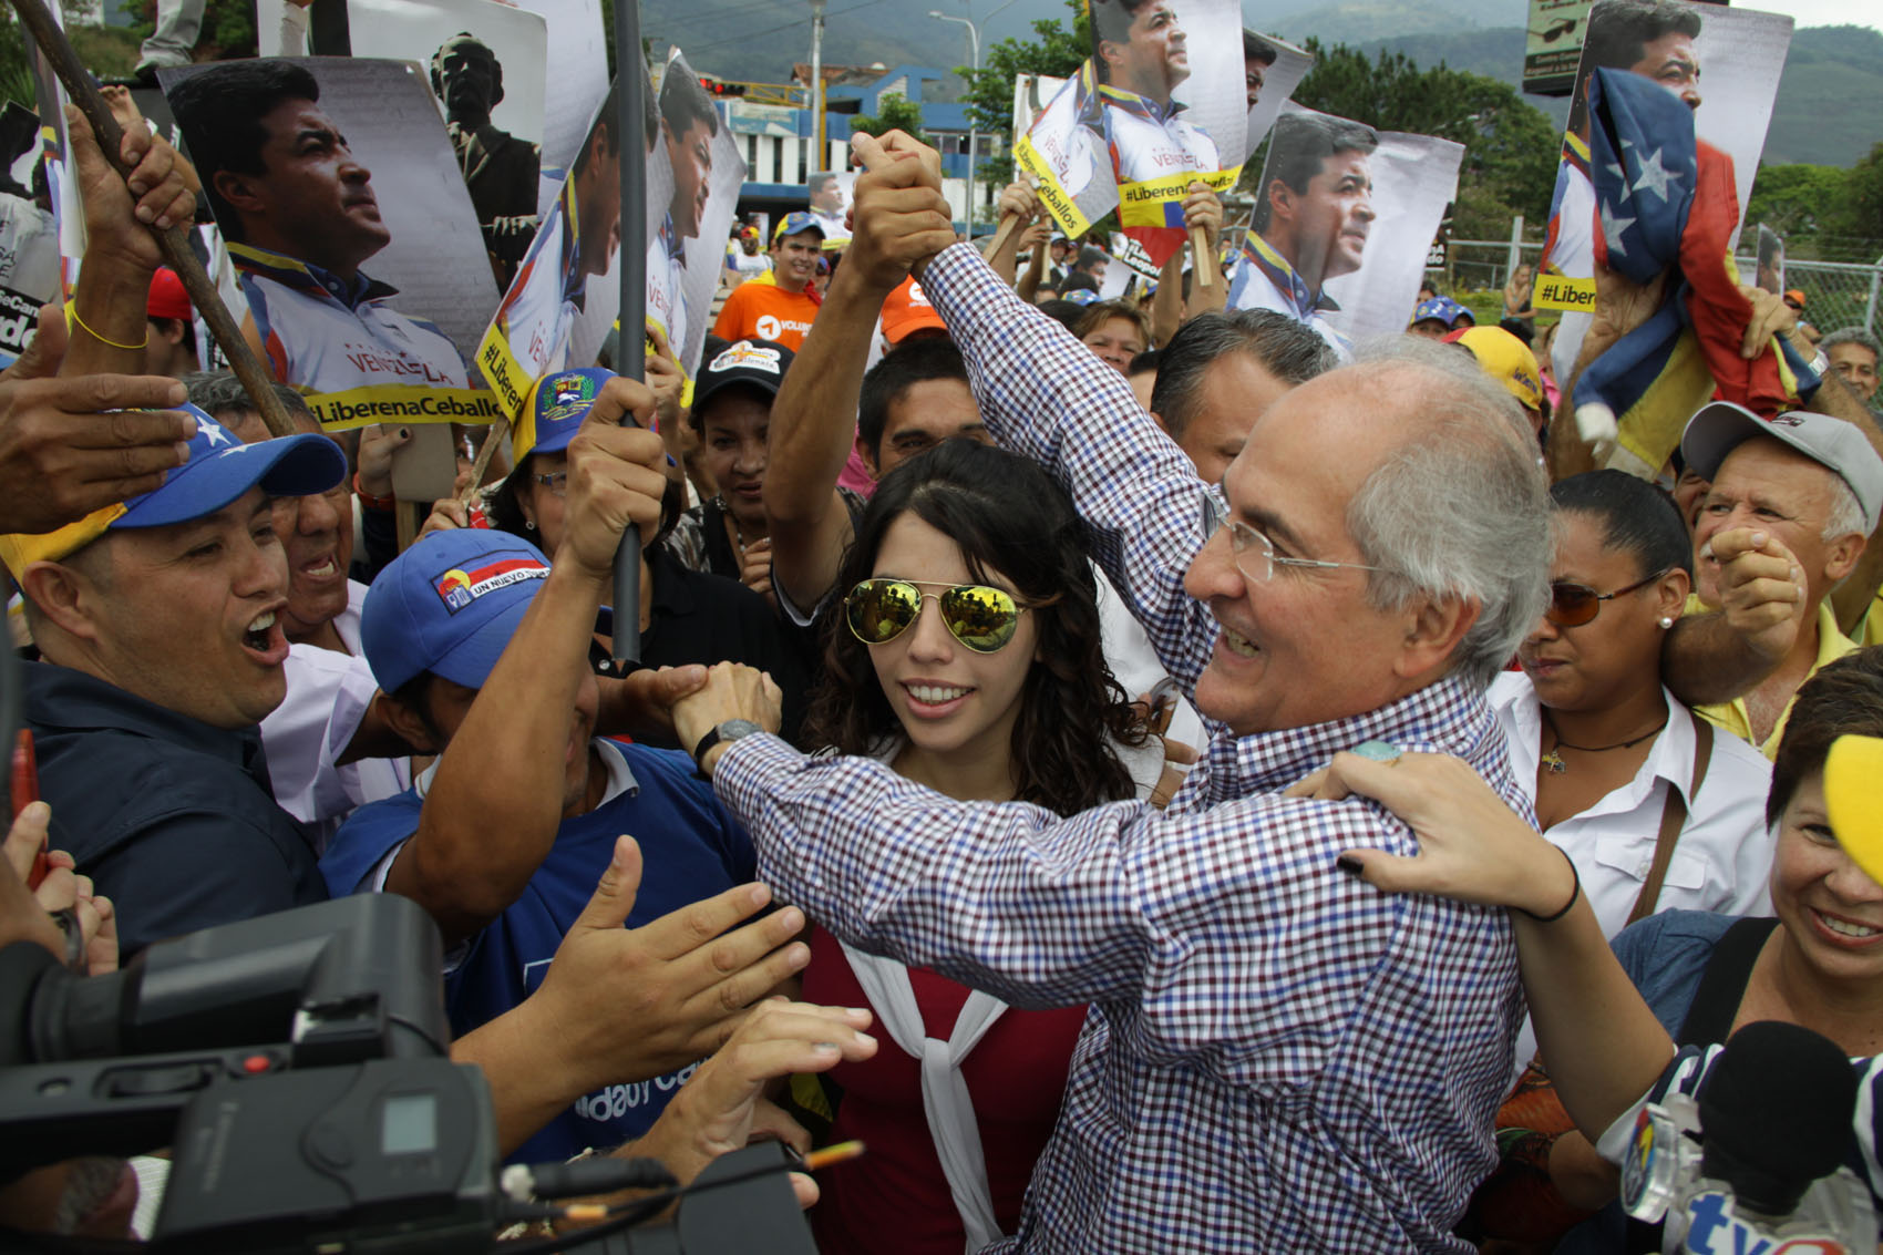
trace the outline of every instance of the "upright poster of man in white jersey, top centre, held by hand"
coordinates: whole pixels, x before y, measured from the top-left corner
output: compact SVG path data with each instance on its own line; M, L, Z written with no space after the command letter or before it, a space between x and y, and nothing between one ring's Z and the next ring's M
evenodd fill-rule
M1247 153L1235 0L1086 0L1102 151L1119 224L1158 266L1183 247L1190 183L1235 187Z

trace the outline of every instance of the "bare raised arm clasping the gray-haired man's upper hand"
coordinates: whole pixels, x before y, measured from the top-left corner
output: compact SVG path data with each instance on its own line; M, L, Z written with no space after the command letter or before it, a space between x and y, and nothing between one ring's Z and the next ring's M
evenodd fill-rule
M764 471L772 577L806 611L830 590L849 545L836 479L857 435L876 311L908 279L911 260L955 239L940 192L902 162L857 177L855 222L823 309L772 401Z

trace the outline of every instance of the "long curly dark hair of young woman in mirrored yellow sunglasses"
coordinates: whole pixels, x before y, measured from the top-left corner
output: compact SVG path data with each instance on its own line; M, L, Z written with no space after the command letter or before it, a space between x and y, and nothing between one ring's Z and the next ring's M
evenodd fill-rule
M1147 729L1105 663L1085 528L1038 465L964 439L909 458L870 497L821 616L825 675L804 744L868 754L902 733L870 646L844 624L842 594L870 579L883 535L904 513L953 537L974 579L994 582L998 573L1034 607L1039 644L1013 724L1015 799L1066 816L1135 797L1111 739L1143 744Z

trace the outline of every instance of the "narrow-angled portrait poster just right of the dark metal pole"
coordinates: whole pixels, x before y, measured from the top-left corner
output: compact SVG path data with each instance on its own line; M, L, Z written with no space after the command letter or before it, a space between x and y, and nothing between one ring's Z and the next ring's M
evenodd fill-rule
M659 322L680 367L693 375L712 324L746 158L680 49L667 60L659 100L674 185L663 234L648 253L648 320ZM847 188L844 209L849 211ZM661 309L655 288L665 288Z

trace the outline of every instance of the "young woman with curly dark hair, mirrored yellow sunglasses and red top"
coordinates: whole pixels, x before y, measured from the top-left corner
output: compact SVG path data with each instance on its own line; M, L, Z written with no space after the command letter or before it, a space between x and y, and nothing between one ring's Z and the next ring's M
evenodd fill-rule
M958 439L902 464L836 588L804 744L957 801L1070 816L1152 795L1162 742L1105 667L1083 528L1034 464ZM902 1048L829 1074L832 1136L870 1153L819 1178L819 1249L960 1255L1011 1232L1085 1010L1009 1010L821 929L804 997L868 997Z

